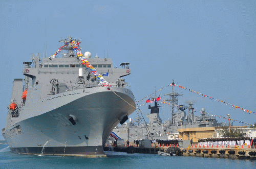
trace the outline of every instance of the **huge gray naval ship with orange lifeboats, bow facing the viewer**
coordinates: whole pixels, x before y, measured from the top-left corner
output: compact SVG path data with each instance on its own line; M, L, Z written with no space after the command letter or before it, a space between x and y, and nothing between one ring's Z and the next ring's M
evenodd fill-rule
M59 42L54 55L23 62L25 78L13 81L2 134L13 153L105 157L102 145L136 107L123 79L130 63L116 68L109 58L83 55L71 36Z

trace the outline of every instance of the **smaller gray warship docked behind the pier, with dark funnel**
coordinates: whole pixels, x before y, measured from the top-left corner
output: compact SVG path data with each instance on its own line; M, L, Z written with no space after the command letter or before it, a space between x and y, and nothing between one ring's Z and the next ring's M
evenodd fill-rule
M178 129L183 128L200 128L200 127L217 127L221 126L216 120L215 116L210 116L205 112L205 108L201 109L201 115L195 115L193 103L188 103L188 106L178 105L178 96L182 95L174 90L174 80L172 83L172 92L165 95L169 96L168 100L171 106L172 119L165 122L159 116L159 106L155 98L151 98L154 106L148 105L151 109L150 114L146 117L149 118L149 123L143 123L140 118L132 122L131 118L128 123L114 128L113 132L116 133L123 140L141 140L149 138L153 140L168 140L168 139L181 139L179 138ZM186 112L185 110L188 110Z

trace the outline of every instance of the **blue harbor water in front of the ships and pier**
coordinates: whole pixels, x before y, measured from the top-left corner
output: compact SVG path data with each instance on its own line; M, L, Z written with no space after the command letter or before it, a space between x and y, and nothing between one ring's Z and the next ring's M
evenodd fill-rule
M0 144L0 168L256 168L256 160L106 152L108 158L32 156Z

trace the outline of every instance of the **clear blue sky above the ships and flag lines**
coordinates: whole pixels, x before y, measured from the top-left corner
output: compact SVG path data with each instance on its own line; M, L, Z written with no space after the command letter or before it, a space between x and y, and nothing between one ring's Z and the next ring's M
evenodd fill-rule
M53 55L69 35L82 52L131 63L125 81L137 101L172 83L179 104L240 122L256 122L256 1L0 1L0 128L5 127L12 82L23 62ZM47 51L47 52L46 52ZM197 91L213 100L191 92ZM172 91L157 92L161 99ZM148 97L146 97L148 99ZM217 99L217 101L215 101ZM218 102L218 100L220 100ZM223 104L221 101L225 102ZM138 102L145 103L145 99ZM226 103L255 112L247 113ZM159 102L160 117L170 108ZM149 113L147 104L141 106ZM199 112L200 114L200 112ZM228 123L219 118L219 122ZM134 112L132 119L137 117ZM234 126L242 123L233 122ZM3 139L3 136L0 136Z

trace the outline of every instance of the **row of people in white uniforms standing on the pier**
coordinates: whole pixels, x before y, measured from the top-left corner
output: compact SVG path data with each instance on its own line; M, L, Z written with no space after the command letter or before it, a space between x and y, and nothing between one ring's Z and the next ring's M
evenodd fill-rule
M251 144L251 140L253 140L250 137L225 137L225 138L204 138L198 140L198 145L200 146L234 146L234 145L253 145ZM256 141L256 139L255 139Z

